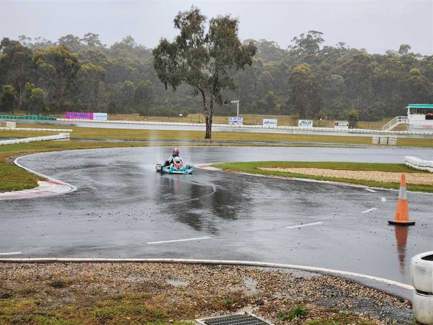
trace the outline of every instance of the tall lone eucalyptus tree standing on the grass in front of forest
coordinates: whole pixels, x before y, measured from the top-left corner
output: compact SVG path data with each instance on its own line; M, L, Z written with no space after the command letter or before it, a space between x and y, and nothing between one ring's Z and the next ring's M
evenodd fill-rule
M239 21L218 16L209 21L205 33L206 17L198 8L179 12L174 27L180 34L173 42L161 39L153 50L153 66L165 89L174 91L186 83L193 96L201 95L206 121L205 138L211 138L214 103L222 104L222 92L236 89L233 72L251 66L256 46L242 44L238 37Z

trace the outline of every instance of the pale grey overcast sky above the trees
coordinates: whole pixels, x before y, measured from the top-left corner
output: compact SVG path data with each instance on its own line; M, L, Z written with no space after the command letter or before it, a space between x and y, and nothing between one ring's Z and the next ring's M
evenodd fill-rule
M173 17L197 6L207 17L240 19L240 38L276 41L286 48L293 37L322 32L326 45L345 42L369 53L397 50L433 54L433 0L428 1L18 1L0 0L0 38L42 36L56 41L74 34L99 34L107 45L131 35L153 48L173 39Z

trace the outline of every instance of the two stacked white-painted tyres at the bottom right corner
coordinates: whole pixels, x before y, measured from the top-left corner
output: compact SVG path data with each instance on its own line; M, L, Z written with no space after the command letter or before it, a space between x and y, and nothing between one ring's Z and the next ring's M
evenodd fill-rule
M433 251L412 257L410 277L413 314L418 322L433 325Z

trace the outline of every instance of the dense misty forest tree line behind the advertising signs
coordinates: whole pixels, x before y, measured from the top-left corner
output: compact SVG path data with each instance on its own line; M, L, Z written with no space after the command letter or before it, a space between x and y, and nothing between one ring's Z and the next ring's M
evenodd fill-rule
M348 112L356 110L361 120L374 121L405 114L408 103L433 103L433 55L413 53L407 44L384 54L369 54L342 42L323 43L321 32L309 31L294 37L287 49L267 40L236 45L249 49L251 62L241 62L240 68L240 57L235 58L238 63L231 58L225 73L233 85L221 89L213 113L233 115L234 106L218 104L220 99L239 99L245 114L347 119ZM174 43L167 44L165 50L170 51ZM198 88L191 91L187 84L171 80L176 91L166 91L154 61L152 49L131 36L111 46L93 33L82 38L70 34L56 42L24 35L17 40L4 38L0 110L158 116L202 112Z

